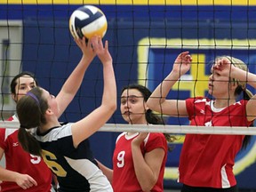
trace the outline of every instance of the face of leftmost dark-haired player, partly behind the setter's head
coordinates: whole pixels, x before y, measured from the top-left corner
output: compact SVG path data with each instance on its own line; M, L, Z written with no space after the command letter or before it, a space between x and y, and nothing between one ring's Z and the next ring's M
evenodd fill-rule
M12 98L16 102L18 102L18 100L20 100L21 97L26 95L27 92L29 92L31 89L36 87L36 82L34 78L31 76L20 76L20 78L16 80L16 83L17 83L15 87L16 94L15 95L12 94Z

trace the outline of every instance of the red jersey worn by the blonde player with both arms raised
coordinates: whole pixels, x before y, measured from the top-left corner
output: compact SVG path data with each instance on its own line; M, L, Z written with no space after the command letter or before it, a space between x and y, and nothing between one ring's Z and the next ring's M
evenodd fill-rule
M227 108L214 108L213 100L186 100L191 125L250 126L245 116L247 100ZM236 185L235 157L244 135L187 134L180 155L179 181L192 187L230 188Z

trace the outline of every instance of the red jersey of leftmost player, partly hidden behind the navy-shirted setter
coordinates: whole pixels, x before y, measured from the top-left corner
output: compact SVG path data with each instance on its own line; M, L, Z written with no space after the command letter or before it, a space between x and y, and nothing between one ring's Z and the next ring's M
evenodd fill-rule
M12 116L8 121L18 121L16 116ZM47 192L52 188L52 172L44 164L43 158L33 156L25 152L18 141L17 129L0 129L0 147L4 149L5 168L13 172L28 174L37 182L33 186L24 190L15 182L3 181L1 190L3 192Z

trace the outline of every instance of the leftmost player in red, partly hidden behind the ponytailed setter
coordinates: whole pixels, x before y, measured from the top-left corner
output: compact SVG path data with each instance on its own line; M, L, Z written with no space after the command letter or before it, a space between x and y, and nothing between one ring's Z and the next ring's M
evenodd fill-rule
M29 72L22 72L12 79L11 92L15 101L37 85ZM8 121L18 122L16 115ZM51 191L52 172L44 164L41 156L25 152L18 141L17 129L0 129L0 157L5 155L5 169L0 167L1 191ZM35 185L34 188L30 188Z

